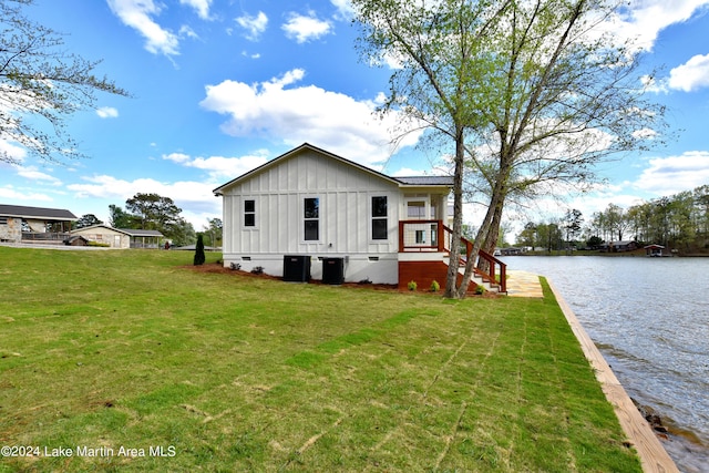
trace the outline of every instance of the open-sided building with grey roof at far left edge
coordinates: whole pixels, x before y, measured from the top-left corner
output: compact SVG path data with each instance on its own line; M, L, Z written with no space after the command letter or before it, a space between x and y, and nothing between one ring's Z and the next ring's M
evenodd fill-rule
M62 208L0 204L0 241L62 244L76 219Z

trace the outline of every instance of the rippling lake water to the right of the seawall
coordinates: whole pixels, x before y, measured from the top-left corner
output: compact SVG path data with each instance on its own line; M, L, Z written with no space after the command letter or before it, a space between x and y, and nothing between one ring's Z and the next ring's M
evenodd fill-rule
M549 278L616 377L669 426L682 472L709 472L709 258L516 256Z

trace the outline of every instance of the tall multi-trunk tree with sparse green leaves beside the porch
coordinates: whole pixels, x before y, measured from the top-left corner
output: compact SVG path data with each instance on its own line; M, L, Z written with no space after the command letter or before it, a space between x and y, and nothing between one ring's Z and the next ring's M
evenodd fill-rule
M400 66L382 111L404 112L430 128L430 143L454 150L454 240L466 173L487 203L460 286L449 268L448 297L463 297L477 251L494 250L511 197L590 184L595 164L644 147L664 126L662 107L641 93L637 52L598 32L613 1L352 3L366 55Z

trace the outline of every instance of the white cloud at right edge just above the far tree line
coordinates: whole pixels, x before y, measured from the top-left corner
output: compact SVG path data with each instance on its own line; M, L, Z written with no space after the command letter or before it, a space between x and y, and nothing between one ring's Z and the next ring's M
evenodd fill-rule
M670 196L709 183L709 152L688 151L679 156L649 160L633 187Z

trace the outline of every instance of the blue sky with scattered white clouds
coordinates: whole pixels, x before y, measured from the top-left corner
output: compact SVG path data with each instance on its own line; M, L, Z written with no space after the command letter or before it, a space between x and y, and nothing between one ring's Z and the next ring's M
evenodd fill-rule
M222 217L214 188L305 142L393 176L439 173L419 135L389 145L397 116L372 112L393 70L360 58L348 0L35 0L24 12L132 96L100 93L96 110L66 117L88 158L45 163L0 140L18 161L0 163L1 204L107 223L110 205L156 193L199 232ZM599 165L607 185L590 194L510 215L513 233L709 184L709 0L630 0L609 28L661 68L648 93L677 136ZM479 213L466 206L464 222Z

